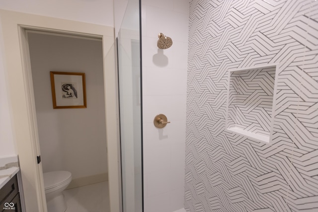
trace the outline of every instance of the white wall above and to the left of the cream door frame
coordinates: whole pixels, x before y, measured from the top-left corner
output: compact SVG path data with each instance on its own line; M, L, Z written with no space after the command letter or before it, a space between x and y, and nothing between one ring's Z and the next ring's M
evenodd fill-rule
M40 14L69 20L114 26L113 0L1 0L0 9ZM0 60L3 61L3 39L0 26ZM0 62L1 62L0 61ZM10 97L6 90L6 73L0 63L0 157L18 153L11 127ZM3 81L3 82L2 82Z

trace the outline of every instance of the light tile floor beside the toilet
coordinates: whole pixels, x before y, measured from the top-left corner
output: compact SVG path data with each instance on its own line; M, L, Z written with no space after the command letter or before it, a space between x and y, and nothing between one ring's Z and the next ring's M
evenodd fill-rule
M109 212L108 181L63 191L66 212Z

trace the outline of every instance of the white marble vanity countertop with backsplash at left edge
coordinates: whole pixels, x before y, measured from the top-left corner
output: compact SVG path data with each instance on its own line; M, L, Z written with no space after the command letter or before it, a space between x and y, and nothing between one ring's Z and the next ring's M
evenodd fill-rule
M20 170L17 155L0 157L0 189Z

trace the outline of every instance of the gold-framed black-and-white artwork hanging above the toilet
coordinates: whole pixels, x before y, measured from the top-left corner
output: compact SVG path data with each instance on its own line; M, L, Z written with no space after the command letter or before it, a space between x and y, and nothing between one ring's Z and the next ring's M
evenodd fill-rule
M53 108L86 108L85 73L50 71Z

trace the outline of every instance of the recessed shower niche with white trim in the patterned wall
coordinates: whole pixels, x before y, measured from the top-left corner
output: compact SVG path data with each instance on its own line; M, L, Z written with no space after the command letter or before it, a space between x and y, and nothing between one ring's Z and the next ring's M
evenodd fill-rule
M229 71L226 130L268 143L277 64Z

